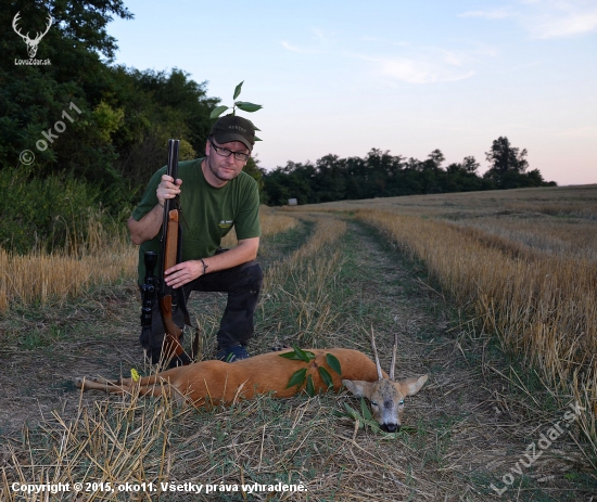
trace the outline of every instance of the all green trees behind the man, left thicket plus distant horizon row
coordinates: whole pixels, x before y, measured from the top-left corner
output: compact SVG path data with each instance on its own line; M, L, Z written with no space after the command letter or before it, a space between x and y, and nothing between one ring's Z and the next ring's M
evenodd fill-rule
M36 55L49 64L22 64L27 48L10 26L17 18L21 34L34 37L45 30L49 16L52 25ZM132 14L122 0L17 0L0 10L4 248L60 247L76 228L85 239L85 221L77 221L90 207L97 209L94 218L120 224L149 178L166 163L168 138L181 139L182 160L204 154L214 123L209 114L220 100L207 95L206 81L196 82L182 69L114 64L116 40L106 30L113 17L131 20ZM472 157L443 168L440 151L425 160L380 150L365 158L327 155L315 164L288 163L269 172L251 159L245 170L270 205L291 197L305 204L544 183L538 170L525 172L525 151L505 138L497 141L503 152L483 177Z

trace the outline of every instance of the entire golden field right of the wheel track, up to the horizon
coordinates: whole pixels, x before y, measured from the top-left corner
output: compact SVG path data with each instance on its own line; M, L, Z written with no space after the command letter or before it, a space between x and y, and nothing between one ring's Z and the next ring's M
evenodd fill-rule
M596 202L597 186L573 186L320 207L355 211L423 261L449 298L542 370L560 401L582 403L597 454Z

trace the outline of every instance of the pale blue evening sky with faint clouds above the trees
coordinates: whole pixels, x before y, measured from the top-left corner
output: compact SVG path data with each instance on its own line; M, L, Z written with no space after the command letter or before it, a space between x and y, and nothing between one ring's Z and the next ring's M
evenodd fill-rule
M254 114L259 166L371 149L444 165L499 137L558 184L597 182L597 0L125 0L116 64L180 68Z

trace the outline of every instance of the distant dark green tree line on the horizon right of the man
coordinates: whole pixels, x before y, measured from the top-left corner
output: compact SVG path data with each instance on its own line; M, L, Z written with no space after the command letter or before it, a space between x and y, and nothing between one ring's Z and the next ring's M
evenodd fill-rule
M264 192L270 205L298 204L392 197L480 190L518 189L555 185L546 182L538 169L526 171L526 150L510 144L508 138L495 140L486 153L490 169L479 175L474 157L444 167L440 150L427 159L390 155L372 149L365 157L340 158L326 155L313 163L289 162L263 176Z

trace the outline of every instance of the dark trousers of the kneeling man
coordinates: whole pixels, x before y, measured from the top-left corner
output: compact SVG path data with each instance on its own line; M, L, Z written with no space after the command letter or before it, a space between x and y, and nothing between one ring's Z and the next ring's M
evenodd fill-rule
M228 293L228 303L216 336L218 348L249 344L255 331L254 313L263 279L259 263L247 261L231 269L207 273L182 286L185 298L189 298L193 291ZM179 295L180 293L178 292ZM178 308L173 319L177 325L183 327L182 309ZM141 334L141 345L148 349L148 356L157 361L164 340L164 324L157 301L153 305L151 336L147 335Z

